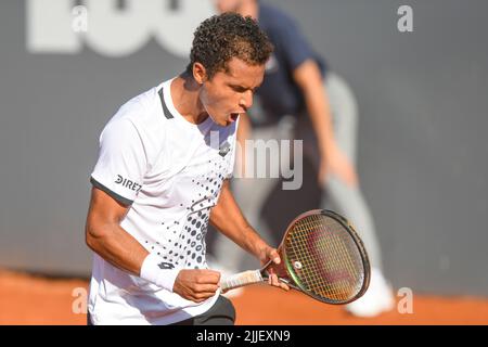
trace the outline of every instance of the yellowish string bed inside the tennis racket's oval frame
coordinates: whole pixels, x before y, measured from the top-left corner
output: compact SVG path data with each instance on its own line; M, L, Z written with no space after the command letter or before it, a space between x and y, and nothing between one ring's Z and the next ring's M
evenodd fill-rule
M341 303L361 290L362 257L338 221L323 215L298 220L285 240L285 249L293 273L312 294Z

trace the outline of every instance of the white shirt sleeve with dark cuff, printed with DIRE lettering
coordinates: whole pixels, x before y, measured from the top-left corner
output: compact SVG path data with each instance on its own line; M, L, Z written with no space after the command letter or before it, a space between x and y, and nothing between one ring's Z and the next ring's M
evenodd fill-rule
M90 181L117 202L131 205L142 188L146 163L136 126L128 119L112 120L100 136L99 158Z

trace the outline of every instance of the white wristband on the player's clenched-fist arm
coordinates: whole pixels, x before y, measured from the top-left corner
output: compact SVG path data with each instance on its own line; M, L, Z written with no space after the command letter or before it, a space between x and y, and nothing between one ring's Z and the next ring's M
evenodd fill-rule
M142 262L141 279L172 293L172 286L180 270L167 269L165 265L167 262L163 258L150 253Z

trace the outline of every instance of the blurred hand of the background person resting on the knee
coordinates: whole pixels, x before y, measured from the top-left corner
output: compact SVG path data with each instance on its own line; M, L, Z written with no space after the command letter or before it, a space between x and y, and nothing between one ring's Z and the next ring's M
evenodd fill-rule
M324 187L329 175L334 175L350 188L358 187L358 175L352 163L336 145L330 145L320 160L319 184Z

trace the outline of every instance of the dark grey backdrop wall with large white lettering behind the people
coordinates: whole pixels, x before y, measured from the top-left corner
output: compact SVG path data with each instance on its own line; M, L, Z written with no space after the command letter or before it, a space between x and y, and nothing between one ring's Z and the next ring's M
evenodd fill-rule
M359 174L393 285L488 295L488 2L269 2L357 97ZM214 12L210 0L0 3L0 267L90 273L100 132L124 102L182 72ZM305 168L303 190L274 192L264 211L275 230L317 206Z

